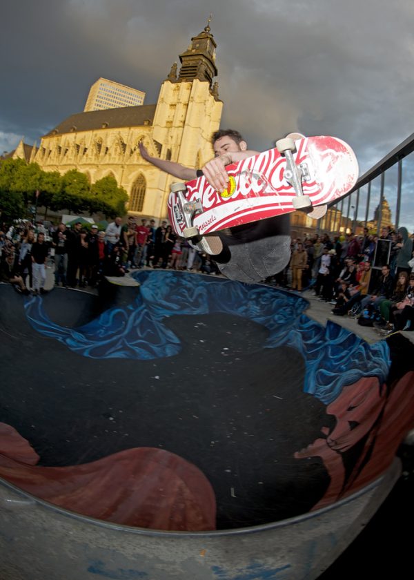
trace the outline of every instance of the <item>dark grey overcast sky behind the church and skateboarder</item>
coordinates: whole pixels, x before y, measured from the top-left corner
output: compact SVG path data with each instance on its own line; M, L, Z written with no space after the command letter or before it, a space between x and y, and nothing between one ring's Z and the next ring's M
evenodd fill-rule
M410 0L14 0L1 6L0 152L21 137L39 144L83 110L99 77L155 103L209 12L221 126L238 128L250 148L290 131L336 135L353 146L362 174L414 132ZM414 231L412 165L400 224ZM391 209L395 184L391 171ZM373 203L378 196L374 186Z

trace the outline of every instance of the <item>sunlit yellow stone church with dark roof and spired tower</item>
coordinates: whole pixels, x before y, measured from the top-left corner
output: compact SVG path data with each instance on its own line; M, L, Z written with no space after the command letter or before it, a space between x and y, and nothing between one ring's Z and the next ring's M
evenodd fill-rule
M128 193L128 213L166 218L170 183L139 154L143 142L150 155L199 168L213 157L211 135L217 131L223 103L218 95L217 44L208 25L191 39L161 84L156 104L90 110L71 115L47 135L30 155L19 144L14 157L36 162L43 171L70 169L90 183L115 177Z

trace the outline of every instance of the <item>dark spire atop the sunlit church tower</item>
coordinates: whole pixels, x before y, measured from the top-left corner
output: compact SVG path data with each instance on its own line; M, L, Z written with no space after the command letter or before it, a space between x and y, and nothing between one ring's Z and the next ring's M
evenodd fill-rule
M191 44L186 52L179 55L181 69L178 81L207 81L210 88L213 85L213 78L217 76L215 66L215 49L217 44L210 32L211 14L207 20L207 26L201 30L199 35L191 39Z

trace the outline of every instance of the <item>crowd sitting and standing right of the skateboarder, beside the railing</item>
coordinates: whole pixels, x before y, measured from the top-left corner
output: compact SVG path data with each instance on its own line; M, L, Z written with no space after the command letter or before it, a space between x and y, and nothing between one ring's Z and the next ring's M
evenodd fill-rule
M382 334L414 330L414 235L406 228L380 236L313 235L292 240L284 272L268 282L297 291L311 289L332 305L332 313L351 313Z

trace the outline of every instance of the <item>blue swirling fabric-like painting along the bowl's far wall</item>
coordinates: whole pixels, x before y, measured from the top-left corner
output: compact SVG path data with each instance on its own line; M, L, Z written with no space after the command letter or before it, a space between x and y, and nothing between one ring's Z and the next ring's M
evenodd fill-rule
M90 358L150 360L175 356L180 340L164 324L174 315L229 313L268 329L264 345L271 350L293 347L306 363L304 392L328 405L360 378L383 383L391 364L388 345L374 345L328 321L326 328L306 316L308 302L295 293L261 284L174 271L133 274L141 284L132 303L109 309L86 325L70 329L46 316L41 298L26 300L26 316L34 329Z

